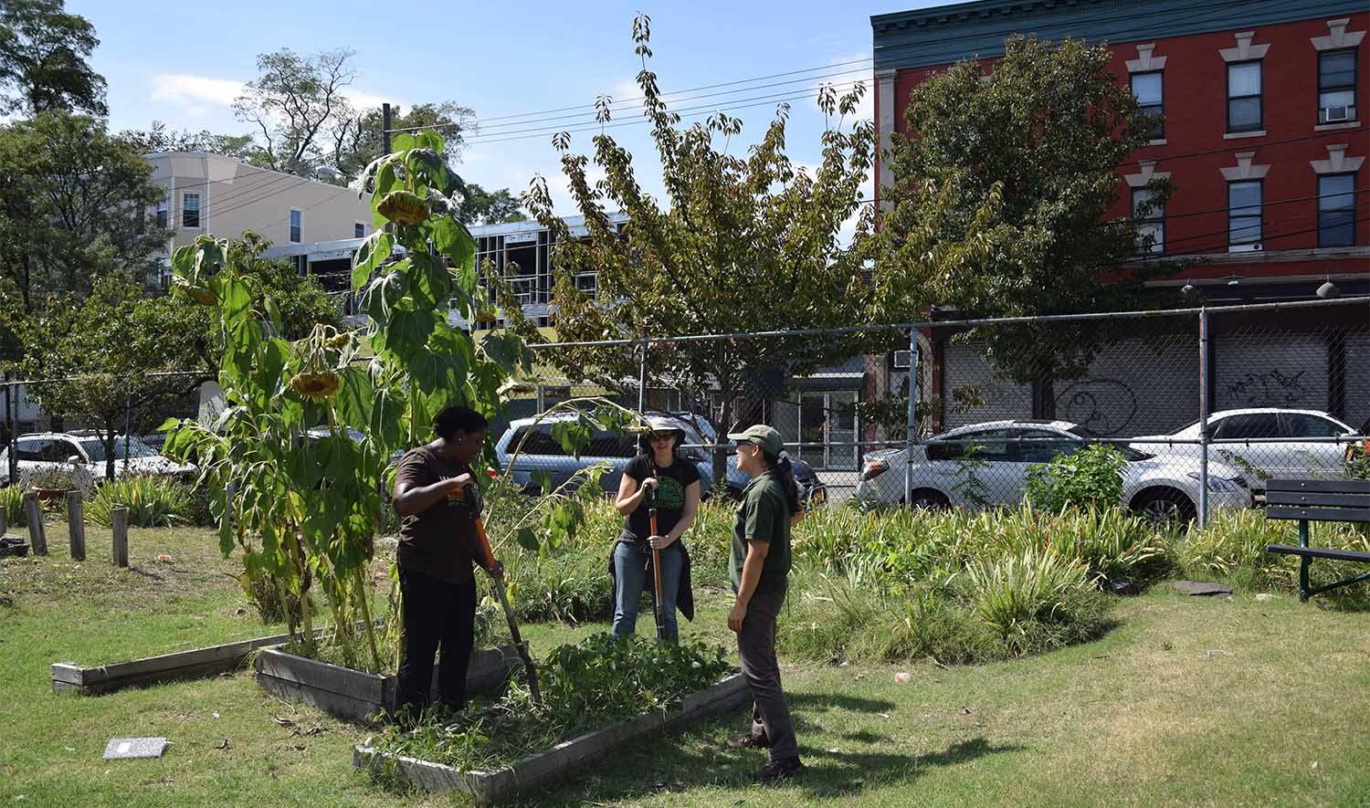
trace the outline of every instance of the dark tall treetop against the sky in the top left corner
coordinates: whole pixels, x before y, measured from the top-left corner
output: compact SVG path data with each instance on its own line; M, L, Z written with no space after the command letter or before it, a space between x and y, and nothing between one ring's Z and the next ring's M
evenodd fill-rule
M0 3L0 112L104 115L104 77L86 62L99 44L90 21L62 0Z

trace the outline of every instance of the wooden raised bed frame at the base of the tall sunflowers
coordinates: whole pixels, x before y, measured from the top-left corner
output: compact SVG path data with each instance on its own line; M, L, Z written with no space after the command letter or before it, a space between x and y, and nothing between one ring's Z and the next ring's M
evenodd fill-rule
M521 664L512 645L471 653L466 675L470 693L493 690ZM284 698L296 698L341 719L367 723L381 711L395 709L397 677L369 674L319 661L279 648L266 648L253 663L258 683ZM437 685L437 667L433 670Z

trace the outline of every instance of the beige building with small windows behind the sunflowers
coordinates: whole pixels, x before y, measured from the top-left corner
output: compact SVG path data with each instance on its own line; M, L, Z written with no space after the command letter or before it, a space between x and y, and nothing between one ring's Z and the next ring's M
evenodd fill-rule
M371 208L351 188L304 179L204 152L153 152L152 178L166 188L156 218L173 229L167 256L197 236L260 233L274 245L358 238ZM166 277L163 277L163 282Z

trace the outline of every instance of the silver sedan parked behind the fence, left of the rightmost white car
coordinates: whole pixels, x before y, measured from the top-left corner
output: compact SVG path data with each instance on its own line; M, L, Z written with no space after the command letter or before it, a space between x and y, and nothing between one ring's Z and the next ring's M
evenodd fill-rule
M877 503L911 503L922 508L993 507L1023 497L1028 468L1074 453L1095 437L1066 420L995 420L954 429L912 448L912 485L904 493L904 449L870 452L856 497ZM1197 512L1199 466L1189 457L1154 456L1119 446L1123 504L1158 520L1188 520ZM1241 474L1223 463L1208 464L1208 507L1247 508L1251 492Z

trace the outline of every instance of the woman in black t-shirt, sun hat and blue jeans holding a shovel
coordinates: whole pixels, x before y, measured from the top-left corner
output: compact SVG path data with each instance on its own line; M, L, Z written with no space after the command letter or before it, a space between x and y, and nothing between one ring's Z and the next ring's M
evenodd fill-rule
M618 512L627 518L611 561L614 635L627 637L637 630L637 604L643 600L644 588L655 578L651 561L652 549L658 549L662 559L662 637L675 642L675 607L682 600L678 597L682 585L689 588L684 574L688 555L681 535L695 522L699 508L699 470L675 452L685 440L684 430L664 418L653 418L649 423L649 449L629 462L614 503ZM652 494L656 497L655 535L648 516Z

